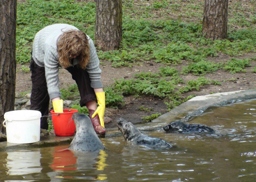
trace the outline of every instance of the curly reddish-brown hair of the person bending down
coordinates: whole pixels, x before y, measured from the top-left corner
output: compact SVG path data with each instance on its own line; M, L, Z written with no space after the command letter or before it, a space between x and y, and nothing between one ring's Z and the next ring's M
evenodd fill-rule
M83 31L70 30L63 32L58 38L57 51L59 54L59 64L63 68L71 65L71 59L76 57L79 66L85 70L90 61L90 48L88 37Z

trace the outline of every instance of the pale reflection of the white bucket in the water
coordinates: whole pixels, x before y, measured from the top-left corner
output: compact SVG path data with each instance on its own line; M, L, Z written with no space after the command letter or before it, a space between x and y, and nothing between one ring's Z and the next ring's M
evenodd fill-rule
M7 152L7 175L26 175L40 173L42 170L40 151L12 151Z

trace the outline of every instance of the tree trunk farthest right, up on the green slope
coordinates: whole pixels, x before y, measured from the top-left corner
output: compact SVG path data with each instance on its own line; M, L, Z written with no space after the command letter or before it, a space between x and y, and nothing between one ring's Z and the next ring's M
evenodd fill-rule
M227 38L228 0L205 0L202 34L207 39Z

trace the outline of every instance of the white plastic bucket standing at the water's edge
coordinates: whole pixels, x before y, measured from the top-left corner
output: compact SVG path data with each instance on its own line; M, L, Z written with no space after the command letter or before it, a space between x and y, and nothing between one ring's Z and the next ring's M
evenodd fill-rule
M40 141L40 111L17 110L5 112L3 126L6 127L8 143L34 143Z

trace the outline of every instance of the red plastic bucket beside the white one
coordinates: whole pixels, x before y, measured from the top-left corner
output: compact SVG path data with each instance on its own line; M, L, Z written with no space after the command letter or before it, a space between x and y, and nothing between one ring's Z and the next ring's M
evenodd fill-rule
M74 135L76 125L72 116L77 109L63 109L63 113L50 111L52 114L52 124L56 136L72 136Z

